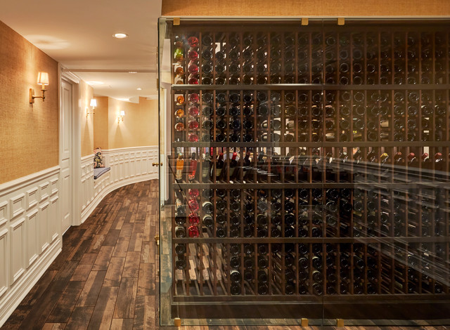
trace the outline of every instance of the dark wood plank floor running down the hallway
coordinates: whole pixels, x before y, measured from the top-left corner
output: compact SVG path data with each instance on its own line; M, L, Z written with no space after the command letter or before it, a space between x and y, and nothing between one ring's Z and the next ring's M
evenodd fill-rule
M70 227L63 251L1 327L6 329L159 329L158 180L108 194L89 218ZM289 330L299 326L174 326L162 329ZM309 329L319 329L310 326ZM321 329L335 329L326 327ZM337 328L342 329L342 328ZM444 326L352 326L359 330Z

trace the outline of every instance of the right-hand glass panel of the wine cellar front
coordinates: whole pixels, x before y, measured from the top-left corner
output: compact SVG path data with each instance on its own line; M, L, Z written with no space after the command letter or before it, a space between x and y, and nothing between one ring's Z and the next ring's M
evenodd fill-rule
M338 294L325 297L324 322L448 322L448 27L347 21L324 30L337 38L339 86L326 88L342 141L339 236L349 237L333 248Z

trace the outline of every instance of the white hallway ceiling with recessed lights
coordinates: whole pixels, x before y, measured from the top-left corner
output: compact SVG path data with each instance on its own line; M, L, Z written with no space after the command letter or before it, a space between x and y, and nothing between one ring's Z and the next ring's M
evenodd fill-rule
M161 1L4 0L0 20L84 81L103 82L92 86L95 95L134 102L158 95Z

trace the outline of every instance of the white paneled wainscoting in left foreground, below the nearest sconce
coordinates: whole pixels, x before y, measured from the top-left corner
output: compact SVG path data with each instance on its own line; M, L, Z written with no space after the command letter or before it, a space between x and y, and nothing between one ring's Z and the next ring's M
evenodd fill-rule
M60 166L0 185L0 326L61 251Z

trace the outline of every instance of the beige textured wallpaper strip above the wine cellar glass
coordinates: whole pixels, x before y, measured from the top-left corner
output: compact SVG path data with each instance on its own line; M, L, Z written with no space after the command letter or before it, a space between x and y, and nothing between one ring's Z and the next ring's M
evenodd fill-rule
M162 0L163 16L449 16L449 0Z

